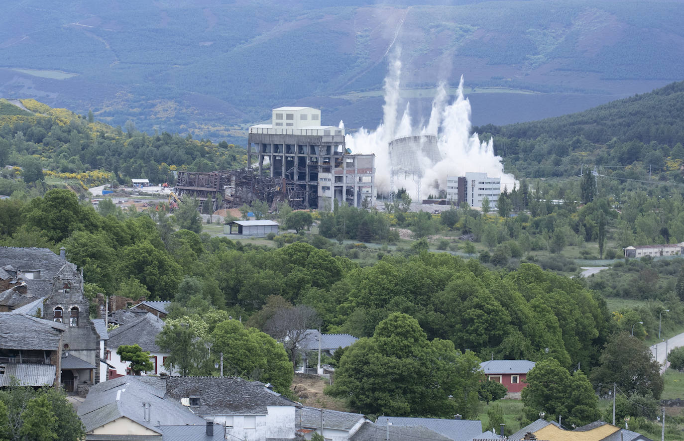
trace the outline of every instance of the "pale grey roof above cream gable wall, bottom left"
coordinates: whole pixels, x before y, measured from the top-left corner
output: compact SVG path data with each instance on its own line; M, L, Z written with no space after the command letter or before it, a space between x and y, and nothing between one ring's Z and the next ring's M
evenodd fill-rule
M151 404L149 422L144 420L142 402ZM86 432L122 416L157 433L162 433L159 425L205 425L205 420L192 414L188 407L165 398L163 392L132 375L92 386L77 414Z

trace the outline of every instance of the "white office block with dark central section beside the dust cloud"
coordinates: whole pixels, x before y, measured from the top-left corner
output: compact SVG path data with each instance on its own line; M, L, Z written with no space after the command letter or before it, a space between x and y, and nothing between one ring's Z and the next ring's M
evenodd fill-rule
M460 205L467 202L473 208L482 208L482 200L489 198L490 207L497 206L501 193L501 178L490 178L486 173L466 173L465 176L447 177L447 202Z

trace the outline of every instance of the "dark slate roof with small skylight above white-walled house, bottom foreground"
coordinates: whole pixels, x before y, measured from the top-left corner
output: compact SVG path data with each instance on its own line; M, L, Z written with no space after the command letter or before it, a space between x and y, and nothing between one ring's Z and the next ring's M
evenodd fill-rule
M180 401L199 397L198 415L266 415L267 407L296 405L260 382L237 377L166 377L166 393Z

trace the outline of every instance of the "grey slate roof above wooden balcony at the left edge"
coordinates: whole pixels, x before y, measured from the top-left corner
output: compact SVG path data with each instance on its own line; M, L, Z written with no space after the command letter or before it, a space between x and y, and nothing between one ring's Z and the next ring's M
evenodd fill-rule
M62 323L14 312L0 312L0 349L56 351L61 343L62 332L67 329Z

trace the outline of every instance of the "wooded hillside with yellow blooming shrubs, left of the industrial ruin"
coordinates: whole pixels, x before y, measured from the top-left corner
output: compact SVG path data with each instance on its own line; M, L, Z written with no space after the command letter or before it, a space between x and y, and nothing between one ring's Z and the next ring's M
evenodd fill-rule
M19 104L19 103L17 103ZM125 132L34 100L17 105L0 100L0 167L23 168L24 183L41 181L42 169L57 176L101 170L100 183L148 178L173 182L172 170L210 171L246 164L245 151L226 142L212 144L169 133L147 135L129 124ZM14 172L5 170L0 194L17 189ZM90 182L92 184L94 182Z

